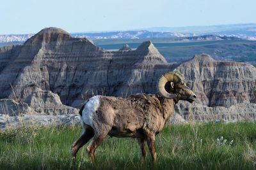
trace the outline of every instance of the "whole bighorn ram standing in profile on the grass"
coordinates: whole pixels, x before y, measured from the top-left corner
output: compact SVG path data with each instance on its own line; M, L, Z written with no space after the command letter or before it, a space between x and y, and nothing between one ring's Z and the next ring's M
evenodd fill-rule
M193 103L196 95L186 86L184 76L177 72L163 74L158 81L158 95L133 95L121 97L93 96L79 111L83 132L72 145L72 157L91 138L86 150L95 162L95 150L107 135L137 138L145 162L146 142L152 159L156 162L155 136L172 115L179 100Z

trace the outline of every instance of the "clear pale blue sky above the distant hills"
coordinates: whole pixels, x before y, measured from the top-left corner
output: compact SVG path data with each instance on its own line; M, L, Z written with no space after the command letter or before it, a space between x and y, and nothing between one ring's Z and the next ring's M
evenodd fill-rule
M256 23L256 0L0 0L0 34Z

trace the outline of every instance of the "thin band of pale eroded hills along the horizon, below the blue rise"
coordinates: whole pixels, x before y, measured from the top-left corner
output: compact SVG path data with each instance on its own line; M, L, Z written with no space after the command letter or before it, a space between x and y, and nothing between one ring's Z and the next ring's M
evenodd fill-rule
M98 32L73 33L74 38L90 39L168 39L168 41L212 41L212 40L241 40L238 36L186 36L186 34L173 34L171 32L125 31L125 32ZM24 43L32 34L3 35L0 36L0 46Z

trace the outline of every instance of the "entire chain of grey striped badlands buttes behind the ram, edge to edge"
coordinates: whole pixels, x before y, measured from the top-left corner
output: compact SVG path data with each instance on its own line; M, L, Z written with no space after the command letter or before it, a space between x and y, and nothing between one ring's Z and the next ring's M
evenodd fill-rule
M136 50L126 45L108 51L50 27L23 45L0 48L0 124L19 117L43 118L43 124L56 117L79 120L78 109L88 97L156 94L157 80L168 71L184 74L198 97L193 104L177 104L174 122L255 119L256 69L250 64L207 54L168 63L150 41Z

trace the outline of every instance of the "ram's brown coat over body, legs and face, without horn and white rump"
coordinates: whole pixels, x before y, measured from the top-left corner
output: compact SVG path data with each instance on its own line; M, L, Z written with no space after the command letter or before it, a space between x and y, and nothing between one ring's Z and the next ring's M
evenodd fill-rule
M90 145L86 148L88 156L95 161L95 150L107 135L115 137L138 138L143 162L147 155L145 143L147 142L150 154L156 162L155 137L172 115L174 106L179 101L195 98L195 94L186 86L186 83L177 83L176 99L166 99L156 95L139 94L121 97L100 96L99 108L92 115L94 136ZM83 111L84 106L81 110ZM82 112L81 111L81 112ZM80 113L80 112L79 112ZM92 127L86 125L86 131L92 131ZM90 138L83 135L72 146L72 156L76 157L79 148ZM85 140L86 142L84 142Z

